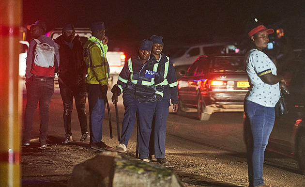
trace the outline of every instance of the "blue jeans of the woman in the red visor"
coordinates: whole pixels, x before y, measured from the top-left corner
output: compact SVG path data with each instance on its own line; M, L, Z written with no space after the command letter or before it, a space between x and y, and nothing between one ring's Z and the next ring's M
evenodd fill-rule
M248 100L245 100L244 110L249 184L250 187L259 187L264 184L264 153L274 126L275 112L273 107L264 107Z

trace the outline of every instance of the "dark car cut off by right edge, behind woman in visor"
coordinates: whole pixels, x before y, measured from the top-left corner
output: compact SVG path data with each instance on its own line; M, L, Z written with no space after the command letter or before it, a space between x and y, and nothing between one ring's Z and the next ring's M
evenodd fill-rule
M305 58L296 60L288 82L290 94L284 95L288 114L275 118L267 149L295 158L305 174Z

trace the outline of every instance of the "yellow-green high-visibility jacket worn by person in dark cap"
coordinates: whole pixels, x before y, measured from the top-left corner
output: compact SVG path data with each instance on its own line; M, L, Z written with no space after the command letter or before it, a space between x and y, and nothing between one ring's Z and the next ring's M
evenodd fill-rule
M107 45L102 44L96 37L88 38L83 48L84 60L88 67L87 83L108 84L109 64L106 58L107 50Z

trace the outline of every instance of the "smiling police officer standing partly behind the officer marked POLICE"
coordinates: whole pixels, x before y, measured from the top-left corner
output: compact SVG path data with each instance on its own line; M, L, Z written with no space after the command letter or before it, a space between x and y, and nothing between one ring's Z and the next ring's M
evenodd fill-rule
M178 82L176 73L172 62L168 56L162 53L163 42L162 36L151 36L152 55L159 62L159 66L164 71L164 81L161 83L163 88L163 98L156 105L155 116L152 124L152 134L150 138L150 159L154 153L157 162L165 164L168 161L165 158L165 136L166 136L166 122L168 119L168 108L173 104L173 111L178 109Z

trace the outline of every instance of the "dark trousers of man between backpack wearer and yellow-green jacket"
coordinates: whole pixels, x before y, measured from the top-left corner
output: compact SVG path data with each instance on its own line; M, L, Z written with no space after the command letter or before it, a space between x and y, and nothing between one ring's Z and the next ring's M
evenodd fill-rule
M73 97L75 99L75 106L77 110L81 134L84 134L88 131L87 114L85 107L87 97L86 84L76 85L73 88L67 87L61 82L59 82L59 84L63 104L63 125L66 136L72 136L71 117L73 110Z

